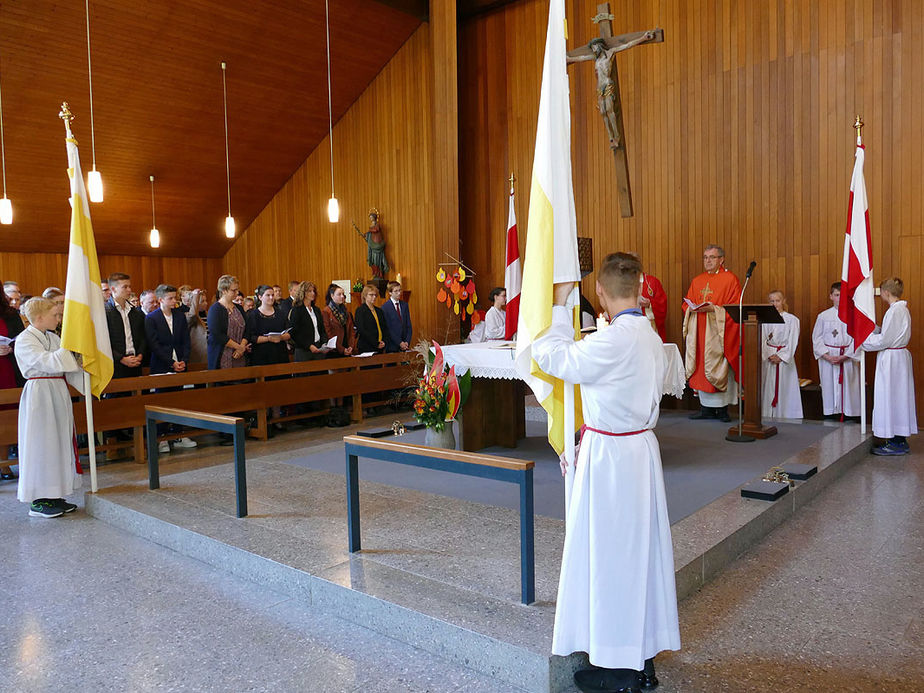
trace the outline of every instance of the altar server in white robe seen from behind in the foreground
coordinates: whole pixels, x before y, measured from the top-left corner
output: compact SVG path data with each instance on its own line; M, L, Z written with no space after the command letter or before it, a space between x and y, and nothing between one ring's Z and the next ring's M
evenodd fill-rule
M552 325L533 345L540 368L581 386L585 428L565 525L552 652L587 652L581 690L657 685L652 658L680 648L670 522L653 429L667 369L638 309L641 265L609 255L597 296L610 325L579 342L554 290ZM563 472L564 472L564 461Z

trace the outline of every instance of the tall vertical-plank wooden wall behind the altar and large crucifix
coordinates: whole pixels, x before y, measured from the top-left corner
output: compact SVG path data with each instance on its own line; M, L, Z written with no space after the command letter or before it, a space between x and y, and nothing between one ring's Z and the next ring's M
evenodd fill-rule
M568 0L569 46L596 33L598 0ZM590 64L571 66L578 232L597 262L636 250L670 299L668 338L701 271L723 245L739 275L758 262L748 298L774 288L802 321L798 367L817 378L815 315L839 279L854 161L851 125L866 122L866 180L877 283L905 280L924 413L924 3L917 0L611 1L616 33L660 25L665 42L618 57L635 216L619 216L615 170ZM461 240L488 284L504 274L515 171L520 247L528 232L548 2L521 0L460 26ZM593 296L592 278L585 294ZM486 293L485 293L486 295ZM879 307L881 319L882 307ZM872 362L872 359L870 359Z

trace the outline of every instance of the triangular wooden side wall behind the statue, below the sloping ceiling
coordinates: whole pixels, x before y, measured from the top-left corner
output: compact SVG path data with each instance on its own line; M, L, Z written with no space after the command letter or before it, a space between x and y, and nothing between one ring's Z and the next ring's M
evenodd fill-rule
M437 231L443 220L433 212L430 55L424 24L335 125L340 222L327 220L325 138L225 255L225 271L243 287L309 279L323 292L333 279L368 278L365 241L350 222L365 231L374 206L388 244L388 276L400 272L412 292L415 340L445 340L446 308L436 303L434 275L443 252L454 253L458 241Z

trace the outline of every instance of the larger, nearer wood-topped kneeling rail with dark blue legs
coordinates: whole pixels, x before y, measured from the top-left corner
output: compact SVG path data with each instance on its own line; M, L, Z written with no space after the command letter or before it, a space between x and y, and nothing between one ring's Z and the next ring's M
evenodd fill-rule
M524 604L532 604L536 600L533 462L362 436L344 436L343 443L346 452L350 553L362 549L359 527L360 457L483 479L509 481L520 487L520 598Z

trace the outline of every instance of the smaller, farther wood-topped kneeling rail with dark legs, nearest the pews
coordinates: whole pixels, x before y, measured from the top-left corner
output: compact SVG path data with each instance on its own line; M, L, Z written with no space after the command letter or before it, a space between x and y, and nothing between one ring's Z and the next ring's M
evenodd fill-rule
M148 429L148 488L160 488L160 468L157 452L157 422L195 426L219 433L230 433L234 437L234 487L237 493L237 516L247 517L247 470L244 466L244 419L237 416L221 416L188 409L169 407L144 408L145 425Z

